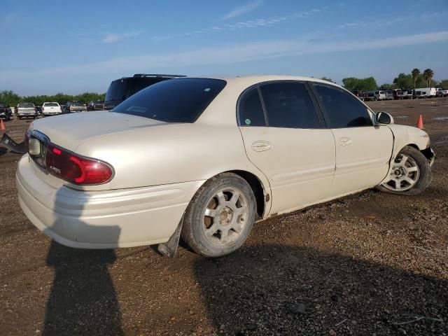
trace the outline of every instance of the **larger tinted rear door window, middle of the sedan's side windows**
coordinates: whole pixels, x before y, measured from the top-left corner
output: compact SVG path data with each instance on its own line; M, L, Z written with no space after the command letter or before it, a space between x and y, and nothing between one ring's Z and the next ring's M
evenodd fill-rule
M262 85L260 90L270 127L321 127L303 83L272 83Z

